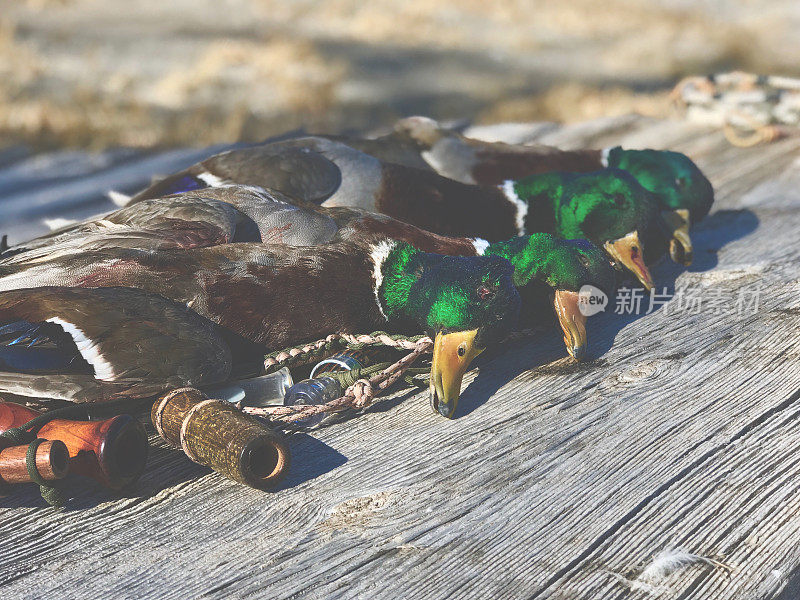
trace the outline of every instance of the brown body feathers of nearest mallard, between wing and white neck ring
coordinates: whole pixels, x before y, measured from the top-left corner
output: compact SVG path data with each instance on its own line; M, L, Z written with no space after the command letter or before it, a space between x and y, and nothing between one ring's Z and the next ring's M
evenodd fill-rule
M314 249L235 243L143 251L109 248L0 266L0 291L38 286L127 287L159 294L265 347L383 322L369 254L351 244Z

